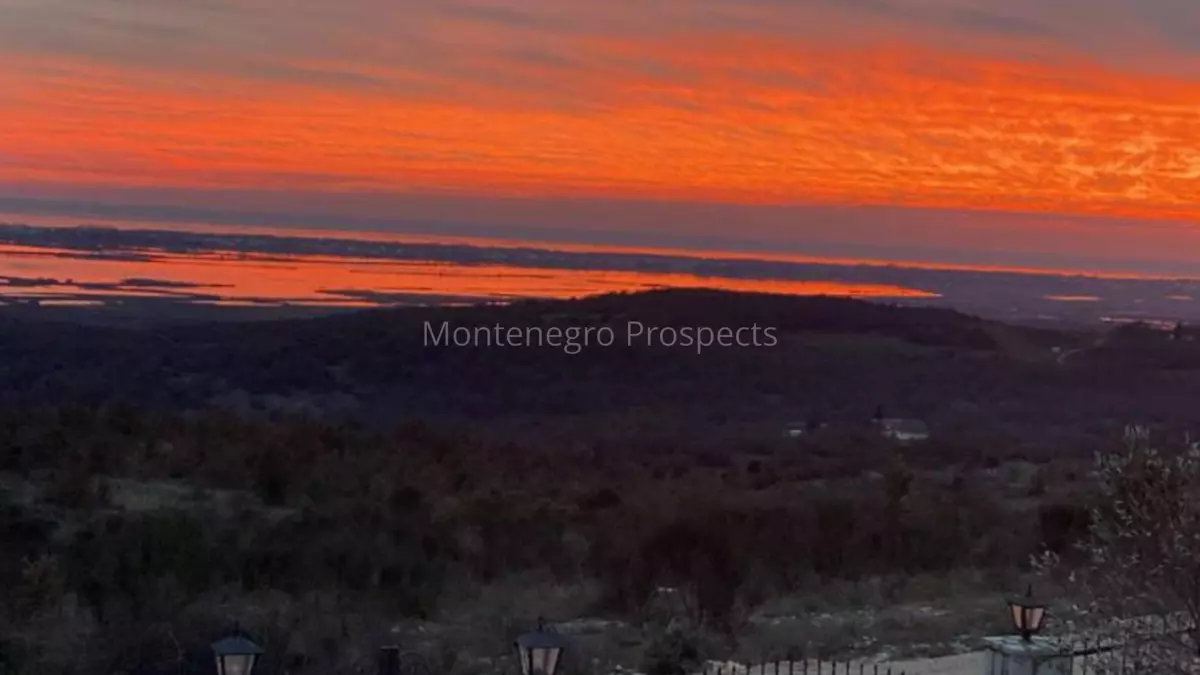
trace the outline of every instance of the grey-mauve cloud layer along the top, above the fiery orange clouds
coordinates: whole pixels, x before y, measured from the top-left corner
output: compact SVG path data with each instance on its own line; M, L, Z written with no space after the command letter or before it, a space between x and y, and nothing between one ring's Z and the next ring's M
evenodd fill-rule
M1200 50L1200 4L1192 0L0 0L0 13L5 53L161 68L250 61L260 62L259 74L318 83L323 71L282 64L344 60L443 74L446 55L486 58L516 46L542 64L569 66L577 62L576 37L730 30L956 46L1028 40L1138 67L1154 65L1150 54L1168 70L1186 67L1178 61ZM372 84L347 79L355 82Z

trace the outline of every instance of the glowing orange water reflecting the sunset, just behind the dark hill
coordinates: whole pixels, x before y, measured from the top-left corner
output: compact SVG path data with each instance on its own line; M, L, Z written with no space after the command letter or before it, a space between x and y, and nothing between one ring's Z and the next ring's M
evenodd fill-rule
M0 244L0 277L20 273L44 280L0 282L4 299L88 297L178 298L186 301L252 300L331 306L372 306L358 293L396 297L461 297L474 301L520 298L572 299L660 288L846 298L938 298L937 293L889 283L786 279L736 279L686 273L624 271L458 264L442 261L348 256L152 251L149 259L70 257L73 251ZM68 257L60 257L68 256ZM130 280L152 279L144 285ZM70 281L64 281L70 280ZM2 281L2 280L0 280ZM101 287L97 287L101 286ZM212 295L194 297L193 295ZM370 300L370 298L367 298ZM389 304L380 301L379 304Z

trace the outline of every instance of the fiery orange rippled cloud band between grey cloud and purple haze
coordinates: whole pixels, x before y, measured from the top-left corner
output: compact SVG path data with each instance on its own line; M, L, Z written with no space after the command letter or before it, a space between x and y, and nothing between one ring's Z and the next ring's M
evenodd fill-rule
M1200 83L1080 61L763 38L462 56L473 77L0 73L0 183L894 204L1172 219L1200 203ZM31 70L38 74L31 77ZM486 77L494 66L494 78ZM482 73L482 77L481 77Z

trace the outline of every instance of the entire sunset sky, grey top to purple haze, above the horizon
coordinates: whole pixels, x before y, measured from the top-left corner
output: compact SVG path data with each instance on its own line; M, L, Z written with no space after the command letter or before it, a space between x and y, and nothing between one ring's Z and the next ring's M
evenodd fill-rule
M0 213L1200 274L1195 0L0 0Z

